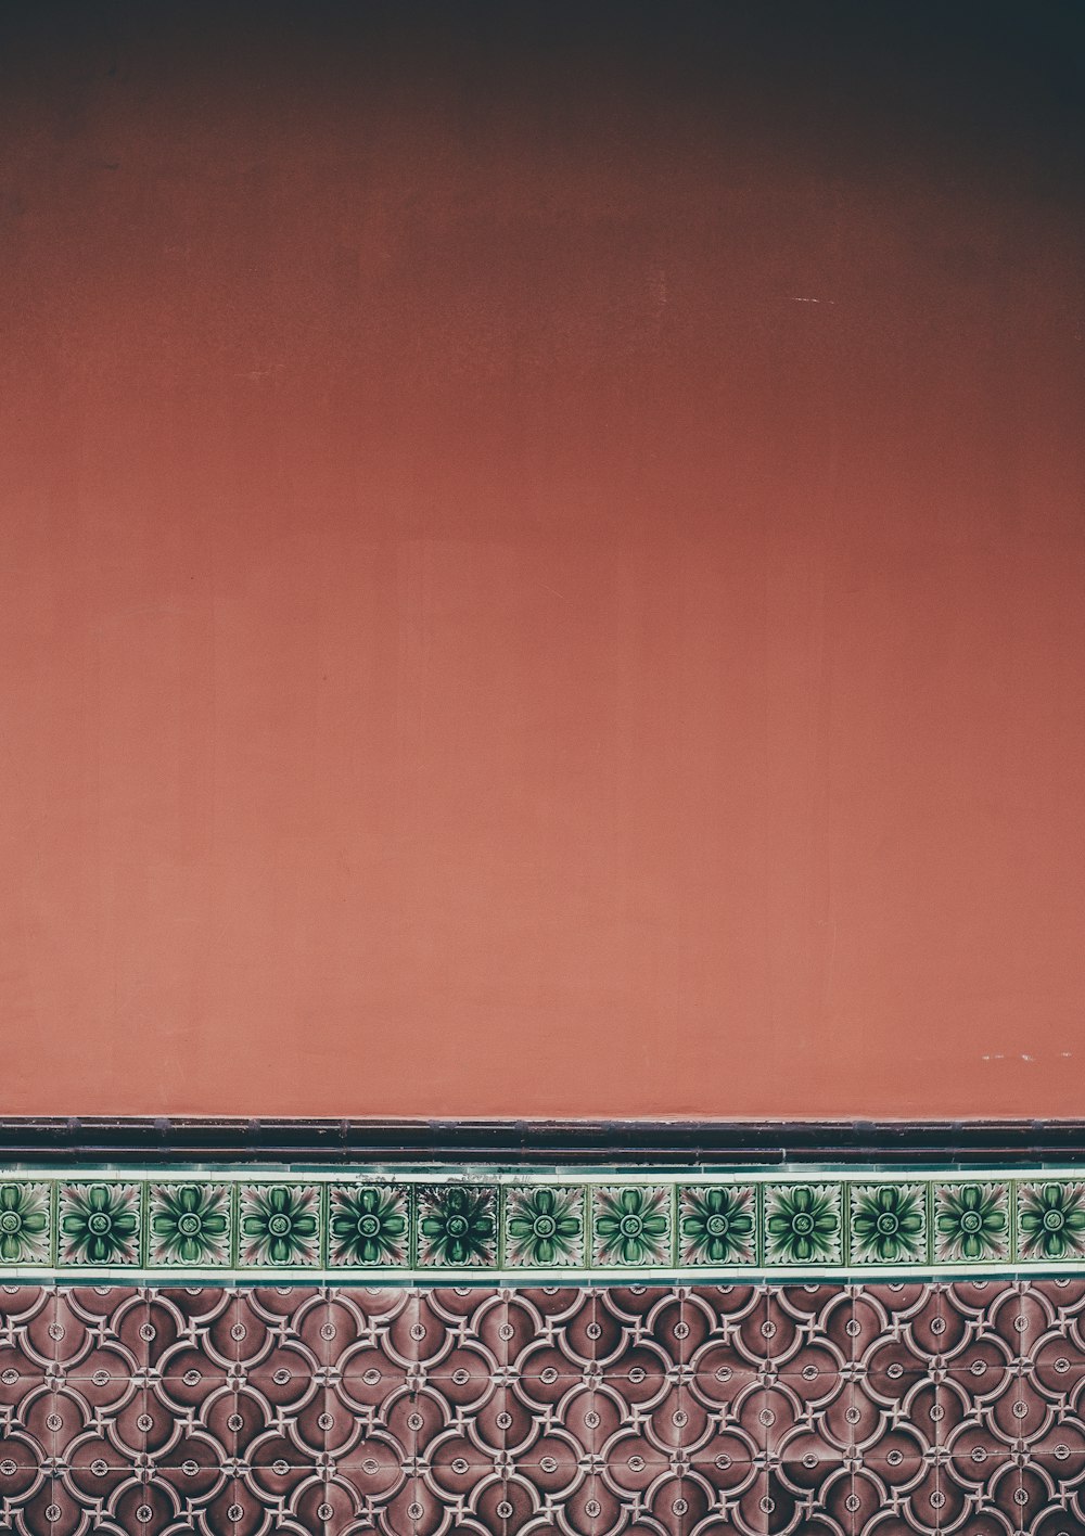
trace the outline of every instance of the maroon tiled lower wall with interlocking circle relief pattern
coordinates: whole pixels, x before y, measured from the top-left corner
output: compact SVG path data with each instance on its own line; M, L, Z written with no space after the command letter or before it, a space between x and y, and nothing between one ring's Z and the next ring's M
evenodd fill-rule
M0 1527L1085 1536L1082 1299L8 1287Z

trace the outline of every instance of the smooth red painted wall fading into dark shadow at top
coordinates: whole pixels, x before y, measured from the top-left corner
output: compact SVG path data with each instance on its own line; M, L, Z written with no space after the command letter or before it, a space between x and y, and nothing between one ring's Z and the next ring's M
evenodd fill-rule
M5 8L0 1111L1085 1109L1076 18L870 12Z

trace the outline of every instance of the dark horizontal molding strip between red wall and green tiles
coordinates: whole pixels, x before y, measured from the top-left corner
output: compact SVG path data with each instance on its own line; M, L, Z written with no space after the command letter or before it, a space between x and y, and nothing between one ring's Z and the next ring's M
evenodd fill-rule
M0 1118L0 1161L656 1166L1037 1164L1085 1158L1085 1120Z

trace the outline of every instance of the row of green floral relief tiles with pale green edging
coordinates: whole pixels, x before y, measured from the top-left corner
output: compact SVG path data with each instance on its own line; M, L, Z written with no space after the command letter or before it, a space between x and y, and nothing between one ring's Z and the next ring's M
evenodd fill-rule
M1085 1270L1085 1170L0 1170L0 1276Z

